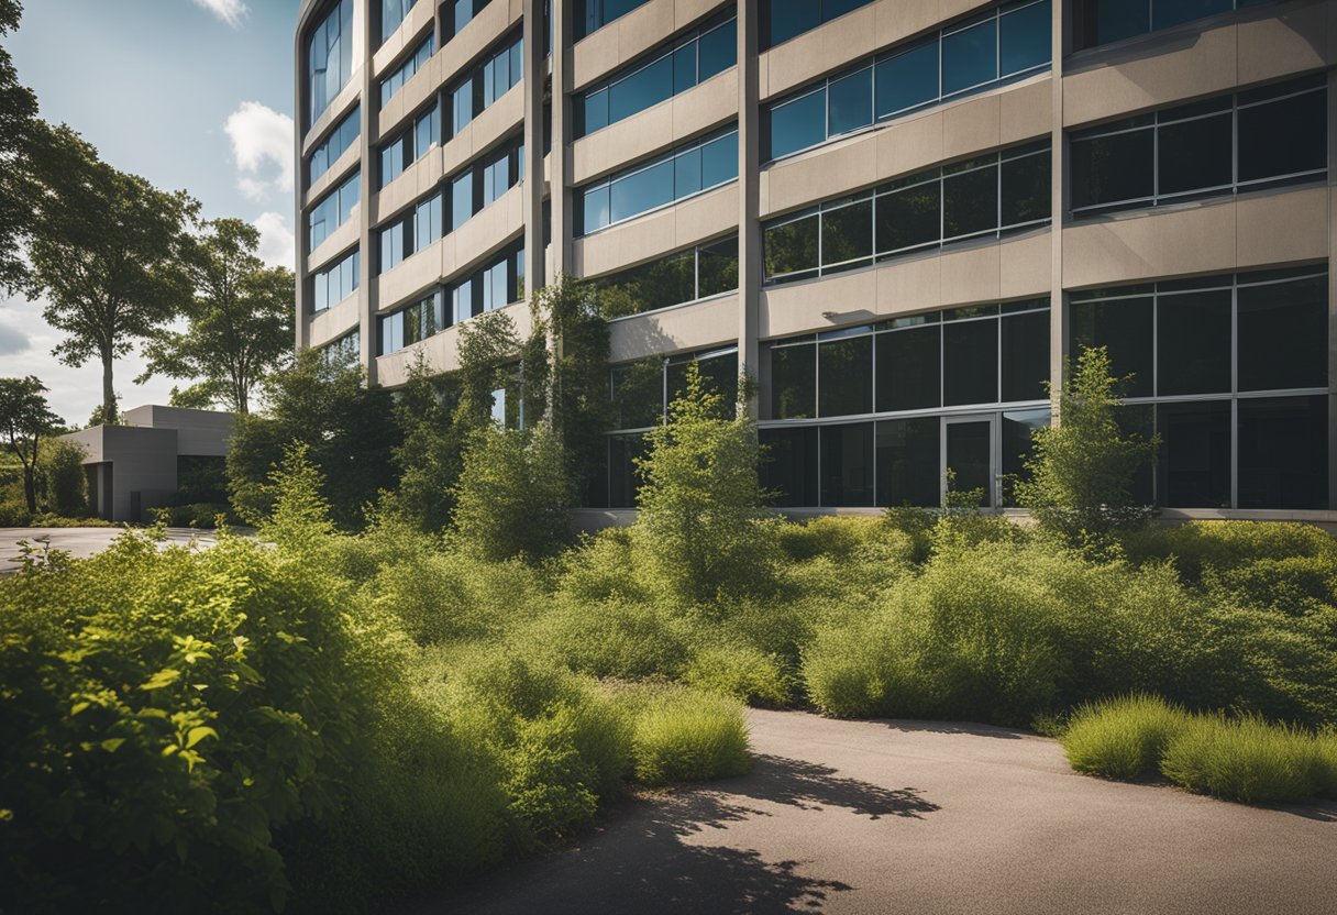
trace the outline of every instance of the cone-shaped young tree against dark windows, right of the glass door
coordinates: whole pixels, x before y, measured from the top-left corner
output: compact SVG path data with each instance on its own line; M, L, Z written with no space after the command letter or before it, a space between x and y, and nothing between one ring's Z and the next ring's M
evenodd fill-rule
M1076 368L1064 365L1058 423L1036 429L1029 480L1016 484L1017 503L1042 528L1072 544L1144 524L1148 506L1132 498L1136 472L1155 458L1159 441L1119 424L1119 388L1103 346L1083 349Z

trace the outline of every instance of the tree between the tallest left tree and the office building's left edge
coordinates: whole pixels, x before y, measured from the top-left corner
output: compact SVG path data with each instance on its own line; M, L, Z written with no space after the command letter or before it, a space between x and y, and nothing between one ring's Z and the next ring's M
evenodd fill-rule
M144 348L154 375L199 379L180 396L222 403L249 413L265 376L283 368L293 349L295 277L257 257L259 231L241 219L215 219L189 262L194 297L185 333L160 330Z

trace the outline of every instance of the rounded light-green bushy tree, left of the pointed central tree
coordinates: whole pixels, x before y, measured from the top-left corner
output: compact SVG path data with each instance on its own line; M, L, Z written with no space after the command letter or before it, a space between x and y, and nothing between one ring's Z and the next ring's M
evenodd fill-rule
M571 542L562 443L547 427L473 432L455 488L461 548L488 562L539 561Z

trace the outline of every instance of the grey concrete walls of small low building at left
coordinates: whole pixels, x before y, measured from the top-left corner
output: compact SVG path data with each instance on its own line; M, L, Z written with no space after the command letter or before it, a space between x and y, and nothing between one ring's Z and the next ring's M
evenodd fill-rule
M123 419L62 436L84 448L90 507L104 520L142 522L170 504L179 458L227 456L231 413L146 405Z

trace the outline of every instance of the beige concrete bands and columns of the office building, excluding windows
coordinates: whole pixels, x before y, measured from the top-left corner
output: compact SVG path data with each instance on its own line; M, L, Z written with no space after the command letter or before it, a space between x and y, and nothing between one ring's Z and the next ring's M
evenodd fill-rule
M981 0L874 0L796 37L765 47L767 0L647 0L579 40L571 0L491 0L453 33L452 3L418 0L380 47L380 4L353 3L354 54L348 84L302 130L297 142L298 243L297 346L324 346L360 333L361 361L373 384L397 385L418 353L440 371L455 368L455 328L396 352L378 354L377 318L433 289L469 276L499 251L520 245L525 286L536 289L559 272L603 277L670 253L737 234L738 288L611 322L615 364L644 357L737 346L738 365L758 379L751 404L762 429L821 425L781 419L771 403L767 345L943 309L1023 301L1050 302L1050 379L1062 381L1072 337L1074 293L1130 284L1167 282L1251 270L1313 268L1328 272L1328 483L1325 504L1305 510L1241 507L1238 467L1230 499L1213 506L1173 506L1187 516L1304 516L1332 520L1337 499L1337 3L1289 0L1183 23L1146 35L1079 48L1080 0L1051 0L1051 56L1019 79L874 119L861 130L806 151L766 161L766 108L828 76L896 52L935 32L951 32L996 11ZM592 0L591 0L592 1ZM306 36L332 0L303 0L297 27L298 111L306 94ZM543 21L544 7L550 20ZM1004 4L1005 5L1005 4ZM582 92L628 67L673 49L703 23L737 20L737 64L622 120L587 135L576 130ZM552 52L544 52L551 32ZM449 119L449 90L512 33L523 33L523 78L492 104L377 190L381 144L440 98ZM380 80L428 35L436 54L381 107ZM878 60L882 58L878 56ZM1326 79L1328 171L1313 181L1234 187L1229 193L1159 202L1099 215L1072 213L1071 136L1130 116L1211 99L1278 80ZM1241 96L1243 98L1243 96ZM306 186L308 155L330 127L361 103L361 138L318 182ZM305 123L305 119L303 119ZM738 179L651 209L607 227L576 233L579 189L714 131L737 124ZM378 229L444 185L468 163L523 130L524 169L515 187L456 231L393 269L377 270ZM1015 233L995 233L802 280L769 282L765 227L844 195L862 194L925 170L1036 144L1047 148L1051 218ZM539 154L551 146L551 151ZM361 170L362 198L352 219L308 251L308 213L328 189ZM449 226L447 226L449 227ZM545 241L547 239L547 241ZM362 281L348 300L313 312L312 278L353 247ZM447 293L447 308L449 294ZM519 324L528 309L507 306ZM877 326L884 326L878 324ZM523 328L521 328L523 329ZM1231 388L1231 400L1238 400ZM1289 392L1294 395L1296 392ZM1316 391L1305 389L1306 396ZM1163 399L1162 399L1163 400ZM1158 401L1159 403L1159 401ZM1031 403L1028 408L1035 408ZM1043 407L1043 404L1040 404ZM1001 416L1003 405L957 411ZM1235 409L1231 407L1231 409ZM935 415L951 419L952 408ZM860 415L877 421L882 415ZM1231 413L1234 416L1234 413ZM853 421L842 419L841 421ZM1234 423L1234 420L1231 420ZM945 428L945 427L944 427ZM1238 447L1231 425L1231 448ZM945 445L944 445L945 448ZM999 445L995 444L995 452ZM1235 451L1231 452L1234 455ZM1233 458L1233 460L1235 460ZM1237 462L1238 463L1238 462ZM878 503L882 504L882 503Z

